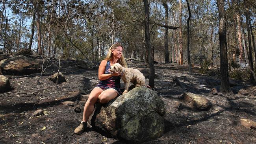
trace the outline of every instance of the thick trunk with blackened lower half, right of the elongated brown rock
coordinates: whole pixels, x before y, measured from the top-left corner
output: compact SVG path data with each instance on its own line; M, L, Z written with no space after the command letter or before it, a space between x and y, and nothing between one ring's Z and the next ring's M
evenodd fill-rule
M224 0L217 0L219 11L219 43L221 55L221 90L229 92L228 81L228 57L227 57L227 43L226 43L226 12L224 9Z

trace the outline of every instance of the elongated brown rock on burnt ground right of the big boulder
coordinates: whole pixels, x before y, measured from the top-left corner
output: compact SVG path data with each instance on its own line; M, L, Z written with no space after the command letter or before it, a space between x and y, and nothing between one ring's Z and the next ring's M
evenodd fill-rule
M197 109L200 111L208 111L211 108L211 102L202 97L198 96L196 94L193 94L191 92L184 92L182 96L180 96L182 101L189 105L191 109Z

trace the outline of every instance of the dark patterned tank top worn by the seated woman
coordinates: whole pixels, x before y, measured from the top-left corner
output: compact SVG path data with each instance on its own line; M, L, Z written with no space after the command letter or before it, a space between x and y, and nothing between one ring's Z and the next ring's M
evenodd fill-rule
M106 65L106 70L105 70L105 74L110 74L111 72L109 71L110 68L110 62L107 61L107 65ZM105 79L103 81L100 81L98 83L98 85L96 85L96 87L100 87L101 89L115 89L117 90L117 92L119 94L121 94L121 90L120 90L120 76L112 76L108 79Z

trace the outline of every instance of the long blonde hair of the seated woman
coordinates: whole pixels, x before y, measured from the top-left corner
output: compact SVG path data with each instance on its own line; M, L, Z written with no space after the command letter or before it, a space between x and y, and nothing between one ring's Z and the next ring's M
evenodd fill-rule
M105 58L107 61L109 61L113 57L111 50L115 50L118 46L121 46L122 50L124 50L124 47L122 46L121 43L112 44L112 46L110 46L110 48L108 49L108 54ZM128 67L123 54L121 55L120 59L117 60L117 63L119 63L120 65L122 65L125 68Z

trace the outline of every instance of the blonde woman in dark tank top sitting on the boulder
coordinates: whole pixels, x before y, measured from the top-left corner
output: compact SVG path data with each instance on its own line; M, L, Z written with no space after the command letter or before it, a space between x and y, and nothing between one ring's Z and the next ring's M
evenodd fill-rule
M121 94L120 91L120 77L119 73L111 73L110 66L115 63L127 67L127 63L122 55L123 46L120 43L113 44L106 56L106 59L101 61L98 69L98 78L100 83L91 91L87 102L83 109L83 120L80 126L76 127L75 133L80 135L87 126L87 120L91 113L93 113L94 105L97 101L100 103L108 103Z

